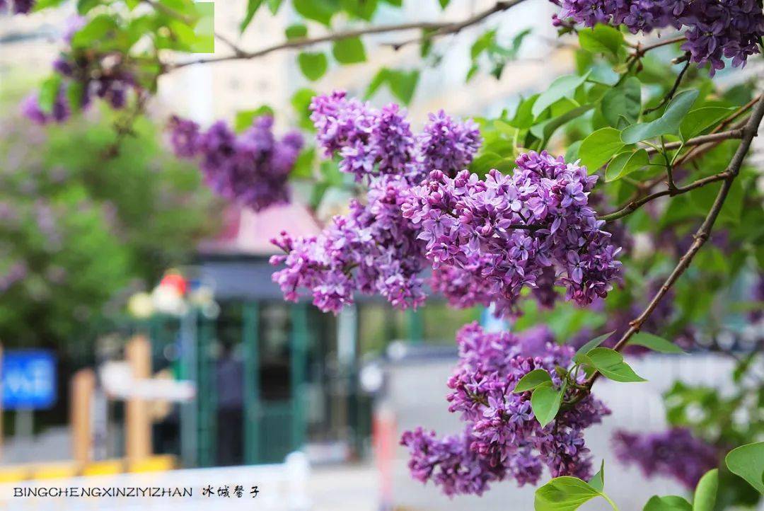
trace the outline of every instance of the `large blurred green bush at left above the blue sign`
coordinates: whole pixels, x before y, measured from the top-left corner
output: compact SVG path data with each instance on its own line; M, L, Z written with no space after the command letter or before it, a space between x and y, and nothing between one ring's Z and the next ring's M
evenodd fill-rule
M189 262L215 232L215 202L196 167L167 154L151 122L132 129L109 157L108 115L66 128L0 120L5 346L83 340L131 289Z

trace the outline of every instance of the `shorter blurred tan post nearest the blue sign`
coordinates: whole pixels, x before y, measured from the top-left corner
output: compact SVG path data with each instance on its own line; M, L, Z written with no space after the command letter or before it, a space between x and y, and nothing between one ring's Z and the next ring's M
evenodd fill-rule
M78 464L92 461L92 402L95 374L92 369L78 370L71 382L72 455Z

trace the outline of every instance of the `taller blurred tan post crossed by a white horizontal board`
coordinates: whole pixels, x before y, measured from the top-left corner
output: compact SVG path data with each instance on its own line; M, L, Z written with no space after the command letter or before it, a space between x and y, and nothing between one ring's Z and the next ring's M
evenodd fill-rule
M151 377L151 343L136 335L125 346L125 359L130 364L133 380ZM129 461L151 456L151 419L145 399L131 397L125 409L125 454Z

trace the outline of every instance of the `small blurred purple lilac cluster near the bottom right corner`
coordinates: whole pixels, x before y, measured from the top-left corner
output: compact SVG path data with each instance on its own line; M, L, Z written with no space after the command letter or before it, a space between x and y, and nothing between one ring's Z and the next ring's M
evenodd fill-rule
M646 477L673 477L688 489L719 463L720 452L692 435L689 429L659 433L617 432L613 445L618 459L636 464Z

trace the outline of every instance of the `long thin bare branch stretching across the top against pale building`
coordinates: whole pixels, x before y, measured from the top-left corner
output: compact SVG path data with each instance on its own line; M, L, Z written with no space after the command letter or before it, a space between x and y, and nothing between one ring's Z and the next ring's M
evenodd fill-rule
M144 0L147 2L154 2L154 0ZM488 18L490 15L494 15L497 12L507 11L507 9L514 7L515 5L518 5L525 0L505 0L503 2L496 2L492 7L485 9L484 11L480 11L475 15L472 15L470 18L467 18L463 21L443 21L443 22L432 22L432 21L418 21L413 23L402 23L402 24L390 24L390 25L377 25L377 26L371 26L371 27L364 27L364 28L358 28L355 30L348 30L348 31L341 31L341 32L334 32L332 34L326 34L320 37L300 37L299 39L292 39L292 40L286 40L279 44L274 44L274 46L263 48L262 50L255 50L255 51L245 51L241 50L238 47L234 48L234 52L232 55L225 55L222 57L211 57L208 59L197 59L197 60L189 60L187 62L182 63L168 63L166 66L166 69L168 71L180 69L181 67L186 66L193 66L195 64L207 64L207 63L217 63L217 62L225 62L229 60L251 60L251 59L257 59L260 57L264 57L269 53L273 53L274 51L279 50L296 50L300 48L306 48L311 47L316 44L320 43L326 43L331 42L335 40L342 40L342 39L348 39L351 37L359 37L362 35L369 35L369 34L387 34L390 32L402 32L402 31L411 31L411 30L426 30L431 31L431 34L427 34L427 38L432 37L439 37L446 34L456 34L466 27L470 27L471 25L478 24L481 21L484 21L484 19Z

